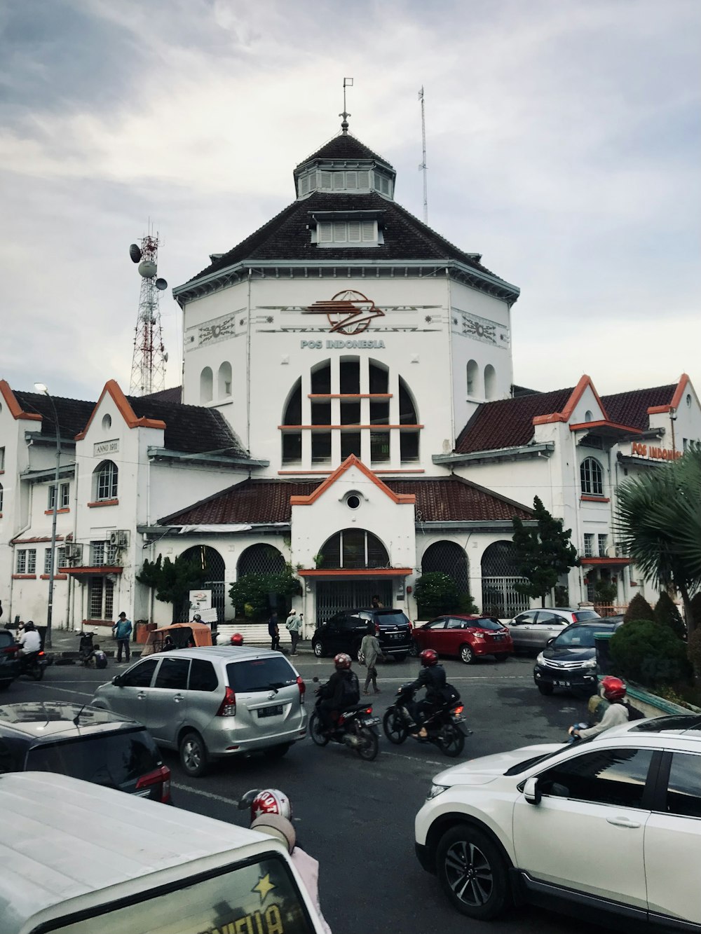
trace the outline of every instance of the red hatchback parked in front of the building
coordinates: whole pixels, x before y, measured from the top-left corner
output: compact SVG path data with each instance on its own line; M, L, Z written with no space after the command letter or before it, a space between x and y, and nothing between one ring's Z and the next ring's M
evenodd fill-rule
M414 630L416 654L434 648L438 655L457 656L465 665L481 655L506 661L513 654L513 642L506 626L492 616L438 616Z

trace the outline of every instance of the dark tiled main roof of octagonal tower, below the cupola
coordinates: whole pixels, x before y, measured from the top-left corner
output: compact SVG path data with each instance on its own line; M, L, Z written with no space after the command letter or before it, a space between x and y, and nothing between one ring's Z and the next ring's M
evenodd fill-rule
M379 247L324 247L311 243L308 224L316 211L376 210L384 243ZM377 191L368 194L338 192L324 194L315 191L308 198L293 202L255 233L241 241L228 253L211 262L190 280L216 273L237 262L249 260L456 260L480 272L494 273L473 256L454 247L436 231L431 230L408 210L383 198Z

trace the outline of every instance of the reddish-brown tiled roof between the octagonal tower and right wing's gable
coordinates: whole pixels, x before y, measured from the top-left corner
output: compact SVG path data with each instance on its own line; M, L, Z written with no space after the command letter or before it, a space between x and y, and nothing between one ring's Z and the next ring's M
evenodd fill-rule
M515 399L479 405L455 443L458 454L527 445L533 438L533 419L561 412L574 389L534 392Z

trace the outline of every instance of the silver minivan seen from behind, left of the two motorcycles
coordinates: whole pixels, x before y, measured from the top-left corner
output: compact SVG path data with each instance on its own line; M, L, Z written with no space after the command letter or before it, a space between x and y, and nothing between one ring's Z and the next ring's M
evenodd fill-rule
M98 687L93 704L143 723L196 776L214 758L284 756L307 733L304 696L279 652L211 645L141 658Z

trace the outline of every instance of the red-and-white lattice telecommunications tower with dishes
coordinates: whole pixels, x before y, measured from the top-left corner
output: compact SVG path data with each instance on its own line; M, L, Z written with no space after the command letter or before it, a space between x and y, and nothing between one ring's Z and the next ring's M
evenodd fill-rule
M143 237L140 247L133 243L129 248L129 256L132 262L138 263L138 274L141 276L129 394L148 396L150 392L164 389L165 363L168 360L158 305L158 293L167 289L168 283L165 279L157 278L158 233Z

